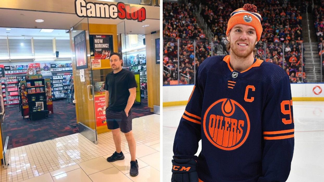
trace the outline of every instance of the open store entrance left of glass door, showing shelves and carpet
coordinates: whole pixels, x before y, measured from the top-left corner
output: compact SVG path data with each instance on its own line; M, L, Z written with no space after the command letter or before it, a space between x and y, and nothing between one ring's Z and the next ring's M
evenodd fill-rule
M0 28L1 133L8 148L78 133L66 31Z

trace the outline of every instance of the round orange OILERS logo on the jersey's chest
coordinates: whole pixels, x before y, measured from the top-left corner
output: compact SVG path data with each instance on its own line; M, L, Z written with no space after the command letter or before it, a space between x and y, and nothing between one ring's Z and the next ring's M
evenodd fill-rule
M249 136L248 113L238 102L228 98L220 99L205 112L203 130L209 142L217 148L237 149Z

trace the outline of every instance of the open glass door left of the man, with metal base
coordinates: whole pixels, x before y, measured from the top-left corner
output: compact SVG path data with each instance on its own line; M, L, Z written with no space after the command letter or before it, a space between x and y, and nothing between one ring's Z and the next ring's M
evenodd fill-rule
M70 30L75 110L79 132L98 144L88 23L88 18L83 18L73 27L73 30Z

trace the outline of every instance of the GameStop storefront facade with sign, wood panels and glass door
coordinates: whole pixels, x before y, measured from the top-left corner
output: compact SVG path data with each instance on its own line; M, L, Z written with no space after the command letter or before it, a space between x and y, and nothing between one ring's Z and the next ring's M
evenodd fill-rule
M156 1L151 5L144 1L137 5L129 2L2 0L0 3L0 15L6 17L0 20L1 27L64 29L69 33L75 122L79 132L95 144L97 134L109 131L101 87L105 76L112 71L111 52L121 53L124 69L134 72L138 83L136 102L141 103L140 89L145 87L151 111L160 105L159 57L156 56L160 7ZM36 22L36 19L43 21Z

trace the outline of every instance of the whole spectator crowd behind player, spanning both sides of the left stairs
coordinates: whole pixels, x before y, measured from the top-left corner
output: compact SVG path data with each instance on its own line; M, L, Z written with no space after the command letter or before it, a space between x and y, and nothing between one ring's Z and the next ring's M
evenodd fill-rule
M302 16L300 16L301 10L306 8L305 3L301 6L296 2L287 0L249 2L258 7L258 13L262 16L263 32L255 47L257 52L255 57L281 66L287 71L291 82L301 82L301 80L306 82L306 75L302 70L305 59L302 57L303 36ZM242 0L207 0L201 3L203 5L201 15L214 33L215 50L213 51L217 52L219 44L225 48L228 42L226 27L230 14L238 7L243 7L245 2ZM179 84L194 84L194 69L197 69L204 59L211 56L211 44L197 24L193 9L191 3L187 5L170 2L163 4L164 85L170 84L172 80L178 80L178 76ZM179 65L178 39L180 39ZM196 41L195 57L194 40Z

